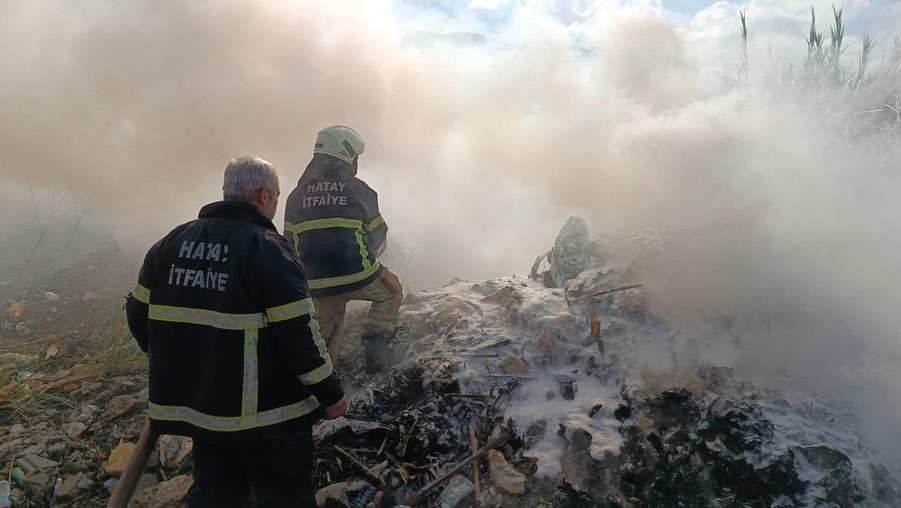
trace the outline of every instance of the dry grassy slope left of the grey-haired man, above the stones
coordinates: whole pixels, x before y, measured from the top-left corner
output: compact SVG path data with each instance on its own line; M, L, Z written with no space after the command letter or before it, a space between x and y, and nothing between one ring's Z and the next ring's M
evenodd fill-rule
M26 421L47 407L71 407L83 382L134 374L146 365L125 324L125 277L100 259L78 260L9 305L0 353L0 418ZM91 294L93 293L93 294ZM16 324L26 324L19 333ZM6 340L9 339L9 340Z

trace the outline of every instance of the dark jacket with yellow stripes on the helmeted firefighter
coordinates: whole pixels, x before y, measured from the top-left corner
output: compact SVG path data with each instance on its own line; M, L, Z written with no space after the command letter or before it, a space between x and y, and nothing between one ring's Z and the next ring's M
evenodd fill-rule
M315 154L285 204L285 236L312 296L347 293L379 277L388 226L378 194L344 161Z

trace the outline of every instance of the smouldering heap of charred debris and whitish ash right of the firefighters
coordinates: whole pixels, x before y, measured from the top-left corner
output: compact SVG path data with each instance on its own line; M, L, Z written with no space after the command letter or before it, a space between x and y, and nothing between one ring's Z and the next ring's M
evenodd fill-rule
M329 438L319 441L325 477L352 494L321 500L901 503L897 462L867 448L853 414L791 385L703 363L699 350L713 346L706 338L686 337L649 310L638 274L665 236L618 241L636 253L629 263L613 262L609 242L590 239L587 224L571 218L528 277L454 280L408 296L406 362L357 392L339 434L324 434L346 437L331 449ZM724 327L716 346L740 347L733 335ZM648 348L668 365L646 372ZM474 453L484 455L473 461Z

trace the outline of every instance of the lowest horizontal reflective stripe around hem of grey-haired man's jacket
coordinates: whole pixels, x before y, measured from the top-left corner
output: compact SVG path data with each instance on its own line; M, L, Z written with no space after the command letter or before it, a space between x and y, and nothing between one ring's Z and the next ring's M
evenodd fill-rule
M148 413L154 420L185 422L215 432L238 432L299 418L317 407L319 401L310 396L289 406L241 416L213 416L185 406L163 406L152 402Z

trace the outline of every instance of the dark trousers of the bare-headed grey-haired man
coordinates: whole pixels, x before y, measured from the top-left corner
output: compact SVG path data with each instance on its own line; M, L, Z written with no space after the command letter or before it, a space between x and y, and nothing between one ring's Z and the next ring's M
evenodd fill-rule
M194 441L188 506L241 507L253 489L259 508L316 506L313 439L304 432L253 444Z

